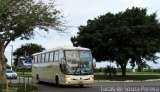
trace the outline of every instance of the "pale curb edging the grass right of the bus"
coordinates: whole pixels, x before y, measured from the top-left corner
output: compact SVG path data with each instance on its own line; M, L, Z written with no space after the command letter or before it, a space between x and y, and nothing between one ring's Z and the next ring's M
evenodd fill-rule
M143 81L134 81L134 80L126 80L126 81L111 81L111 80L95 80L94 82L154 82L154 81L160 81L160 79L149 79L149 80L143 80Z

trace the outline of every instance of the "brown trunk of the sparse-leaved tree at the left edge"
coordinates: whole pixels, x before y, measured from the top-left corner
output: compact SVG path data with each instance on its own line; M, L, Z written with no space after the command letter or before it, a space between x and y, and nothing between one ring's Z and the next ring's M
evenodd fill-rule
M4 56L4 45L0 44L0 83L4 85L6 83L6 61Z

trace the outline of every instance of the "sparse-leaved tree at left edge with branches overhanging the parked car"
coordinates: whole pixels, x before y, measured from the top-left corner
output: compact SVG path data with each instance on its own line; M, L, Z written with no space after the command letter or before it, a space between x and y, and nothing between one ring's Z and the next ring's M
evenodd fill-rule
M48 31L53 28L63 31L63 15L56 9L55 1L0 0L0 79L5 82L6 62L4 51L17 38L30 39L34 29Z

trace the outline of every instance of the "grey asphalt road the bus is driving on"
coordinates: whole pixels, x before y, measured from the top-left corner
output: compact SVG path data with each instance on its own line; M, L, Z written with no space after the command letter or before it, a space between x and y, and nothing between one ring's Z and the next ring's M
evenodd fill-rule
M19 83L29 82L28 78L18 78L8 80L8 82ZM143 82L95 82L93 85L85 85L84 88L78 86L60 86L56 87L51 83L37 84L38 92L160 92L160 81Z

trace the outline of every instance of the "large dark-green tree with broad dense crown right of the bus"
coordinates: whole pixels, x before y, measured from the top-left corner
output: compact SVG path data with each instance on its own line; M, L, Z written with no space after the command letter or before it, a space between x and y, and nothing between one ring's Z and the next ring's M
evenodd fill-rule
M125 76L129 61L141 63L149 57L155 60L160 48L160 23L156 13L148 15L147 9L127 8L89 19L86 26L79 26L78 35L71 41L90 48L97 61L115 61Z

